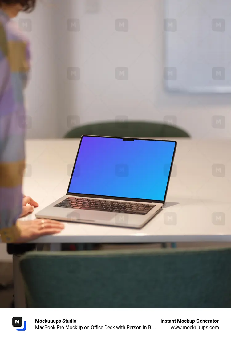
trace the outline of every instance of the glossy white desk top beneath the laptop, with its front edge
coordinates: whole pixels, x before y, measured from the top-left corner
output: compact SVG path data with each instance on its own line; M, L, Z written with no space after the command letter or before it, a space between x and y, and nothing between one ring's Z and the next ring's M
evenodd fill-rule
M231 241L231 140L176 140L166 206L141 230L65 223L36 242ZM66 194L78 146L79 139L27 140L24 193L40 204L36 212Z

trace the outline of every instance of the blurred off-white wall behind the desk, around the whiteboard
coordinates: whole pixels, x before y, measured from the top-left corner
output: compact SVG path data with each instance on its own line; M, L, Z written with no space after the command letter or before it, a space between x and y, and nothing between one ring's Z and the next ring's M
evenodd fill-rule
M166 116L194 138L229 137L230 95L164 91L163 6L164 0L40 0L33 14L21 14L32 20L28 137L62 137L79 123ZM117 19L128 20L128 32L116 31ZM77 31L68 31L67 20ZM68 80L68 67L79 67L79 80ZM117 67L128 68L127 81L115 79ZM213 115L224 116L227 127L213 128Z

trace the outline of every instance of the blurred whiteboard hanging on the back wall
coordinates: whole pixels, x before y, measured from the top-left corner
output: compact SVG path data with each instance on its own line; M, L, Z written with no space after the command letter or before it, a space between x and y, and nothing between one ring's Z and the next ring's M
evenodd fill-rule
M231 93L231 0L164 0L168 91Z

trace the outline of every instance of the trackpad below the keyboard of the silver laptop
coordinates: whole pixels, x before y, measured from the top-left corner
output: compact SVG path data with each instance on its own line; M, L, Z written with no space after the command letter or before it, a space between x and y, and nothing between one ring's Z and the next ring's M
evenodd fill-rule
M113 219L114 216L111 215L111 213L106 213L106 212L102 212L102 213L98 213L99 217L96 218L96 213L93 211L73 211L67 214L67 218L71 219L71 221L85 221L85 222L96 222L98 220L105 220L105 221L109 221L111 219ZM91 218L92 215L92 218Z

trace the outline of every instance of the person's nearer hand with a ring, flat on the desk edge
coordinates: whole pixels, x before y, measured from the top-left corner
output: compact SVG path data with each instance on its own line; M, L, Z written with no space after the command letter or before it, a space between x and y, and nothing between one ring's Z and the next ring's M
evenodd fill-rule
M60 233L64 228L64 224L61 222L49 219L18 220L17 226L21 233L15 242L17 244L32 241L45 235Z

